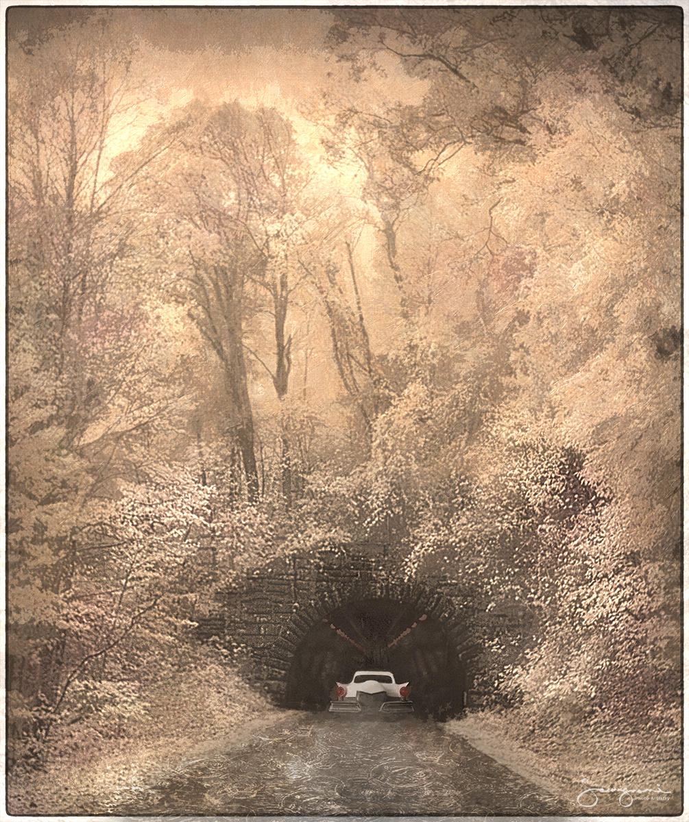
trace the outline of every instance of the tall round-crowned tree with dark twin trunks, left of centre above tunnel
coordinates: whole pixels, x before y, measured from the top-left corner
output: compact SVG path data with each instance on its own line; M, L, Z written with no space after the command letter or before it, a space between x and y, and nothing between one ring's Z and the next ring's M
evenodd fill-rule
M303 190L307 186L294 133L274 109L248 111L238 103L217 109L194 105L183 113L186 136L175 164L158 187L165 202L164 226L191 248L173 252L180 281L196 306L192 316L223 363L230 427L237 438L249 496L256 499L258 476L254 423L247 388L246 354L271 376L282 404L289 388L292 339L287 330L289 300L303 279L295 249L303 242ZM170 208L170 196L174 207ZM159 229L160 231L160 229ZM275 349L252 345L247 325L261 313L272 318ZM266 359L274 358L271 367ZM289 441L282 440L281 471L289 501Z

